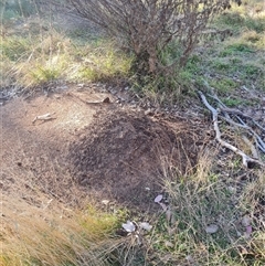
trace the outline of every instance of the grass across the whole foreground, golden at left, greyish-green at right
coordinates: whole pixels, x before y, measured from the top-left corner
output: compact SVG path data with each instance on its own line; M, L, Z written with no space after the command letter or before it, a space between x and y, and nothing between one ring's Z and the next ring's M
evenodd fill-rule
M199 158L193 174L186 175L165 162L170 211L145 217L153 225L148 234L115 236L125 215L93 202L81 211L41 192L41 206L4 195L0 265L264 265L264 171L246 173L255 179L241 182L236 174L214 173L216 150ZM250 237L242 225L246 214ZM216 233L206 233L210 224L218 225Z

